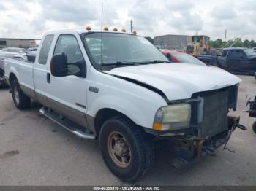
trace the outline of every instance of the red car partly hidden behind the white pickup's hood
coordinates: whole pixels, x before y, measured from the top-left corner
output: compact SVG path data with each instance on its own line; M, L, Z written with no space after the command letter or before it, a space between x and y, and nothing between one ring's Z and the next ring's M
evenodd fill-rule
M160 49L160 51L173 63L192 63L196 65L206 66L205 63L187 54L186 52L178 52L174 50Z

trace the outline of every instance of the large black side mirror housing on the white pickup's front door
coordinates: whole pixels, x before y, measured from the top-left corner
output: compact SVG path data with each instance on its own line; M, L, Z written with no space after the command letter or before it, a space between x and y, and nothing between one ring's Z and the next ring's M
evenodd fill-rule
M53 56L50 61L50 73L53 77L67 76L67 55L65 53Z

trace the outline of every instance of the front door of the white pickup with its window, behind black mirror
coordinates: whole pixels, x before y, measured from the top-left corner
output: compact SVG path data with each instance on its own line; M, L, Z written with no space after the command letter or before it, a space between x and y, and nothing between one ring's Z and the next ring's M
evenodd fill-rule
M83 69L86 69L86 62L80 50L78 39L75 34L60 34L53 56L64 53L67 55L67 63L82 61ZM48 65L50 68L50 66ZM68 76L53 77L48 69L48 102L51 109L63 114L65 117L86 126L86 77L80 77L77 72L78 66L68 65Z

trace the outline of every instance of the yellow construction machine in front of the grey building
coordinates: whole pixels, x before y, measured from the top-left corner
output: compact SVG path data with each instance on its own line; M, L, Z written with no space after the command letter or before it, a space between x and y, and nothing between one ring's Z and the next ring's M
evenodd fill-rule
M188 44L186 47L186 52L189 55L203 55L211 51L210 37L206 35L191 36L191 42L192 44Z

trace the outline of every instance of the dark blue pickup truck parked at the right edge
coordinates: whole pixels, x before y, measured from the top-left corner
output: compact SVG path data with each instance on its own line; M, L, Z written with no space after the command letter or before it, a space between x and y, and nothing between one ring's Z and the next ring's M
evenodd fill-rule
M198 55L197 58L234 74L254 75L256 72L256 54L248 48L225 48L220 56Z

